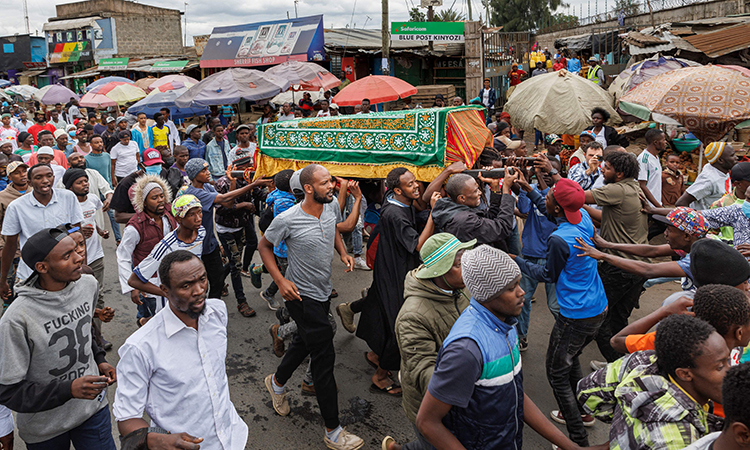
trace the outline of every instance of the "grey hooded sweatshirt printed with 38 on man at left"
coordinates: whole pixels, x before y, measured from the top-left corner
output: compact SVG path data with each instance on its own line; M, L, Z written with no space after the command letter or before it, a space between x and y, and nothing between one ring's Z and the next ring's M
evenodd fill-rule
M27 443L51 439L81 425L107 406L106 390L94 400L74 399L70 386L99 375L103 355L93 343L91 320L98 283L81 275L58 292L40 289L32 276L0 318L0 403L18 412Z

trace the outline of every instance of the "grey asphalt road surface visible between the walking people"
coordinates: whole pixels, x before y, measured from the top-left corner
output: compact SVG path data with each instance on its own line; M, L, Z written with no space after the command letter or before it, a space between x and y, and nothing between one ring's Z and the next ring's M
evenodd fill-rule
M104 241L104 250L105 302L115 308L116 314L112 322L104 325L103 331L106 338L114 344L113 350L107 354L108 361L116 365L117 349L136 329L136 306L131 303L129 296L120 294L112 239ZM255 259L260 260L257 254ZM334 299L334 305L359 298L360 290L370 285L371 274L372 272L363 271L344 273L343 264L336 259L333 262L333 285L339 292L339 297ZM270 277L264 275L263 281L265 287L270 282ZM280 362L273 354L268 333L269 326L277 323L276 317L258 295L259 291L250 284L250 280L243 279L243 282L248 302L258 312L257 316L244 318L237 312L231 288L229 296L224 300L229 311L229 347L226 362L229 389L238 413L250 428L246 448L324 449L323 422L317 402L314 397L303 396L300 393L306 363L300 366L287 385L290 391L291 414L280 417L271 407L271 399L263 379L273 373ZM545 414L548 414L551 410L557 409L544 370L544 358L553 320L547 310L543 285L540 285L540 289L536 294L539 301L532 304L529 349L523 353L523 374L526 393ZM642 317L653 311L669 293L677 290L679 285L674 282L650 288L641 297L640 309L634 311L633 318ZM347 430L362 437L365 441L364 448L369 449L379 449L380 442L386 435L393 436L401 443L414 438L411 423L401 408L401 399L369 392L372 369L363 356L368 350L365 343L339 326L335 345L335 376L339 386L340 416ZM591 359L602 359L595 344L589 345L581 357L584 375L590 373L588 364ZM185 370L190 368L186 367ZM114 393L113 388L107 393L110 405L114 401ZM117 437L114 418L112 425L113 435ZM560 427L564 431L565 427ZM587 430L591 444L595 444L607 439L609 427L598 422ZM16 448L26 448L17 436ZM525 427L524 448L549 449L550 444L529 427Z

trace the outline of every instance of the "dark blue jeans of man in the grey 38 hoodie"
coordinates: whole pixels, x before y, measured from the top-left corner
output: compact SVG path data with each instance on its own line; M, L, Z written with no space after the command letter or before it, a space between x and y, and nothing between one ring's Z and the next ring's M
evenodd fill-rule
M115 450L109 406L100 409L72 430L44 442L26 443L26 448L29 450L70 450L71 443L76 450Z

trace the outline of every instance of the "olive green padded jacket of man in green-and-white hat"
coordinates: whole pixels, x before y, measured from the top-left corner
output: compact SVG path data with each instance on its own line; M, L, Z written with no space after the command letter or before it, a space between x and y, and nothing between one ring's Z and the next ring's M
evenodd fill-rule
M438 350L458 316L469 306L465 290L446 293L432 281L416 278L418 270L406 274L404 304L396 317L402 404L412 423L416 423L419 405L435 370Z

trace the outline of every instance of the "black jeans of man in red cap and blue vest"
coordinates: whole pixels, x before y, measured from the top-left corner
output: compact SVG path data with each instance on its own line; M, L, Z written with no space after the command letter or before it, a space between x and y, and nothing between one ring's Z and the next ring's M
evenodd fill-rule
M589 319L568 319L557 316L549 336L547 348L547 381L565 418L570 440L588 447L589 439L581 416L585 414L576 399L576 387L583 378L578 357L591 341L607 317L607 311Z

